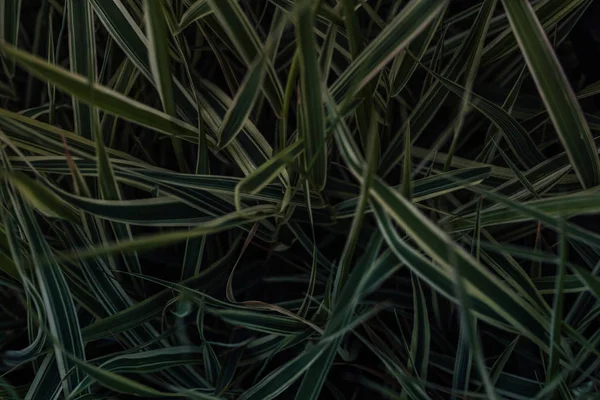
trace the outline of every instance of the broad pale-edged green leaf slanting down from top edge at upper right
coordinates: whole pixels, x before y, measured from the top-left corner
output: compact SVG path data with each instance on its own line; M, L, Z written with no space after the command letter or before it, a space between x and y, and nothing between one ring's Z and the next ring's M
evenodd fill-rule
M584 188L600 183L600 160L573 89L528 2L502 0L550 119Z

